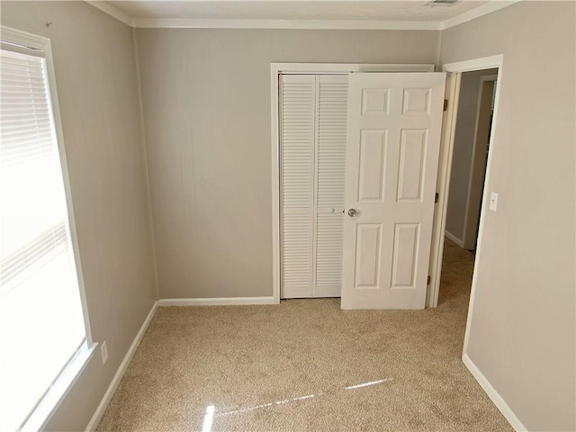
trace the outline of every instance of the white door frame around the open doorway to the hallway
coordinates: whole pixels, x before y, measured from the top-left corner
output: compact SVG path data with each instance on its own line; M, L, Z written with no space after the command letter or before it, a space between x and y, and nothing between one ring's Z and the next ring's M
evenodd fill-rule
M487 211L487 203L490 201L488 193L490 192L486 185L489 183L489 178L491 174L491 161L493 157L494 148L494 133L496 124L498 122L498 108L500 102L500 83L502 80L502 65L504 61L503 55L496 55L485 58L474 58L470 60L459 61L455 63L446 63L443 65L442 70L447 73L453 74L456 78L455 82L455 100L448 101L448 110L446 116L448 116L452 121L446 124L447 130L443 131L443 141L440 144L440 162L438 165L438 181L437 181L437 191L438 191L438 205L437 205L437 215L434 220L433 237L432 237L432 250L430 251L430 286L428 287L428 306L436 307L438 304L438 293L440 292L440 275L442 272L442 257L444 254L444 232L446 229L446 208L447 208L447 198L448 189L450 186L450 174L452 171L452 155L454 152L454 141L455 141L455 125L456 125L456 115L457 115L457 105L458 96L460 88L460 76L464 72L470 72L473 70L483 70L498 68L498 80L496 82L496 91L494 96L494 113L492 117L491 125L491 138L490 138L490 148L491 151L488 152L488 161L486 165L486 173L484 175L484 190L482 192L482 209L480 215L479 229L478 229L478 245L476 247L476 257L474 259L474 269L473 269L473 279L472 279L472 290L470 294L470 304L468 309L468 319L466 321L466 332L464 336L464 352L466 351L466 346L468 342L468 334L470 330L470 323L472 320L474 293L476 291L477 283L477 269L478 262L482 257L482 233L483 225L485 220L485 212Z

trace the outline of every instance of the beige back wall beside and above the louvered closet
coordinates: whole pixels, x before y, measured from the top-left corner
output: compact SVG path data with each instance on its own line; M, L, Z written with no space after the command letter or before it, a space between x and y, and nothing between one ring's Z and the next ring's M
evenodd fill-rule
M437 37L139 29L160 298L272 295L271 62L429 64Z

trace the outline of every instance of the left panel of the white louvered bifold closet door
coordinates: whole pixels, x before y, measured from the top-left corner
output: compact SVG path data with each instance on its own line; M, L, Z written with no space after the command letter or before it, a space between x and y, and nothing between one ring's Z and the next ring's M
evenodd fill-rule
M281 297L311 297L316 77L280 78Z

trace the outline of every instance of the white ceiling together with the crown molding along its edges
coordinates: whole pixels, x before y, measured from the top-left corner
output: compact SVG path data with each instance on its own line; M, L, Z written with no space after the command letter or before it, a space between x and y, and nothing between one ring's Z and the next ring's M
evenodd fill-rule
M132 27L442 30L518 0L192 0L88 2Z

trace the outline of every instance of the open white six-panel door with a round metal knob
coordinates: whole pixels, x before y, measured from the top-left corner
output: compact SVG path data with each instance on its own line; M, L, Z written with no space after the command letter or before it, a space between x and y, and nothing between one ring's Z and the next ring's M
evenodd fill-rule
M348 78L342 309L424 309L445 82Z

